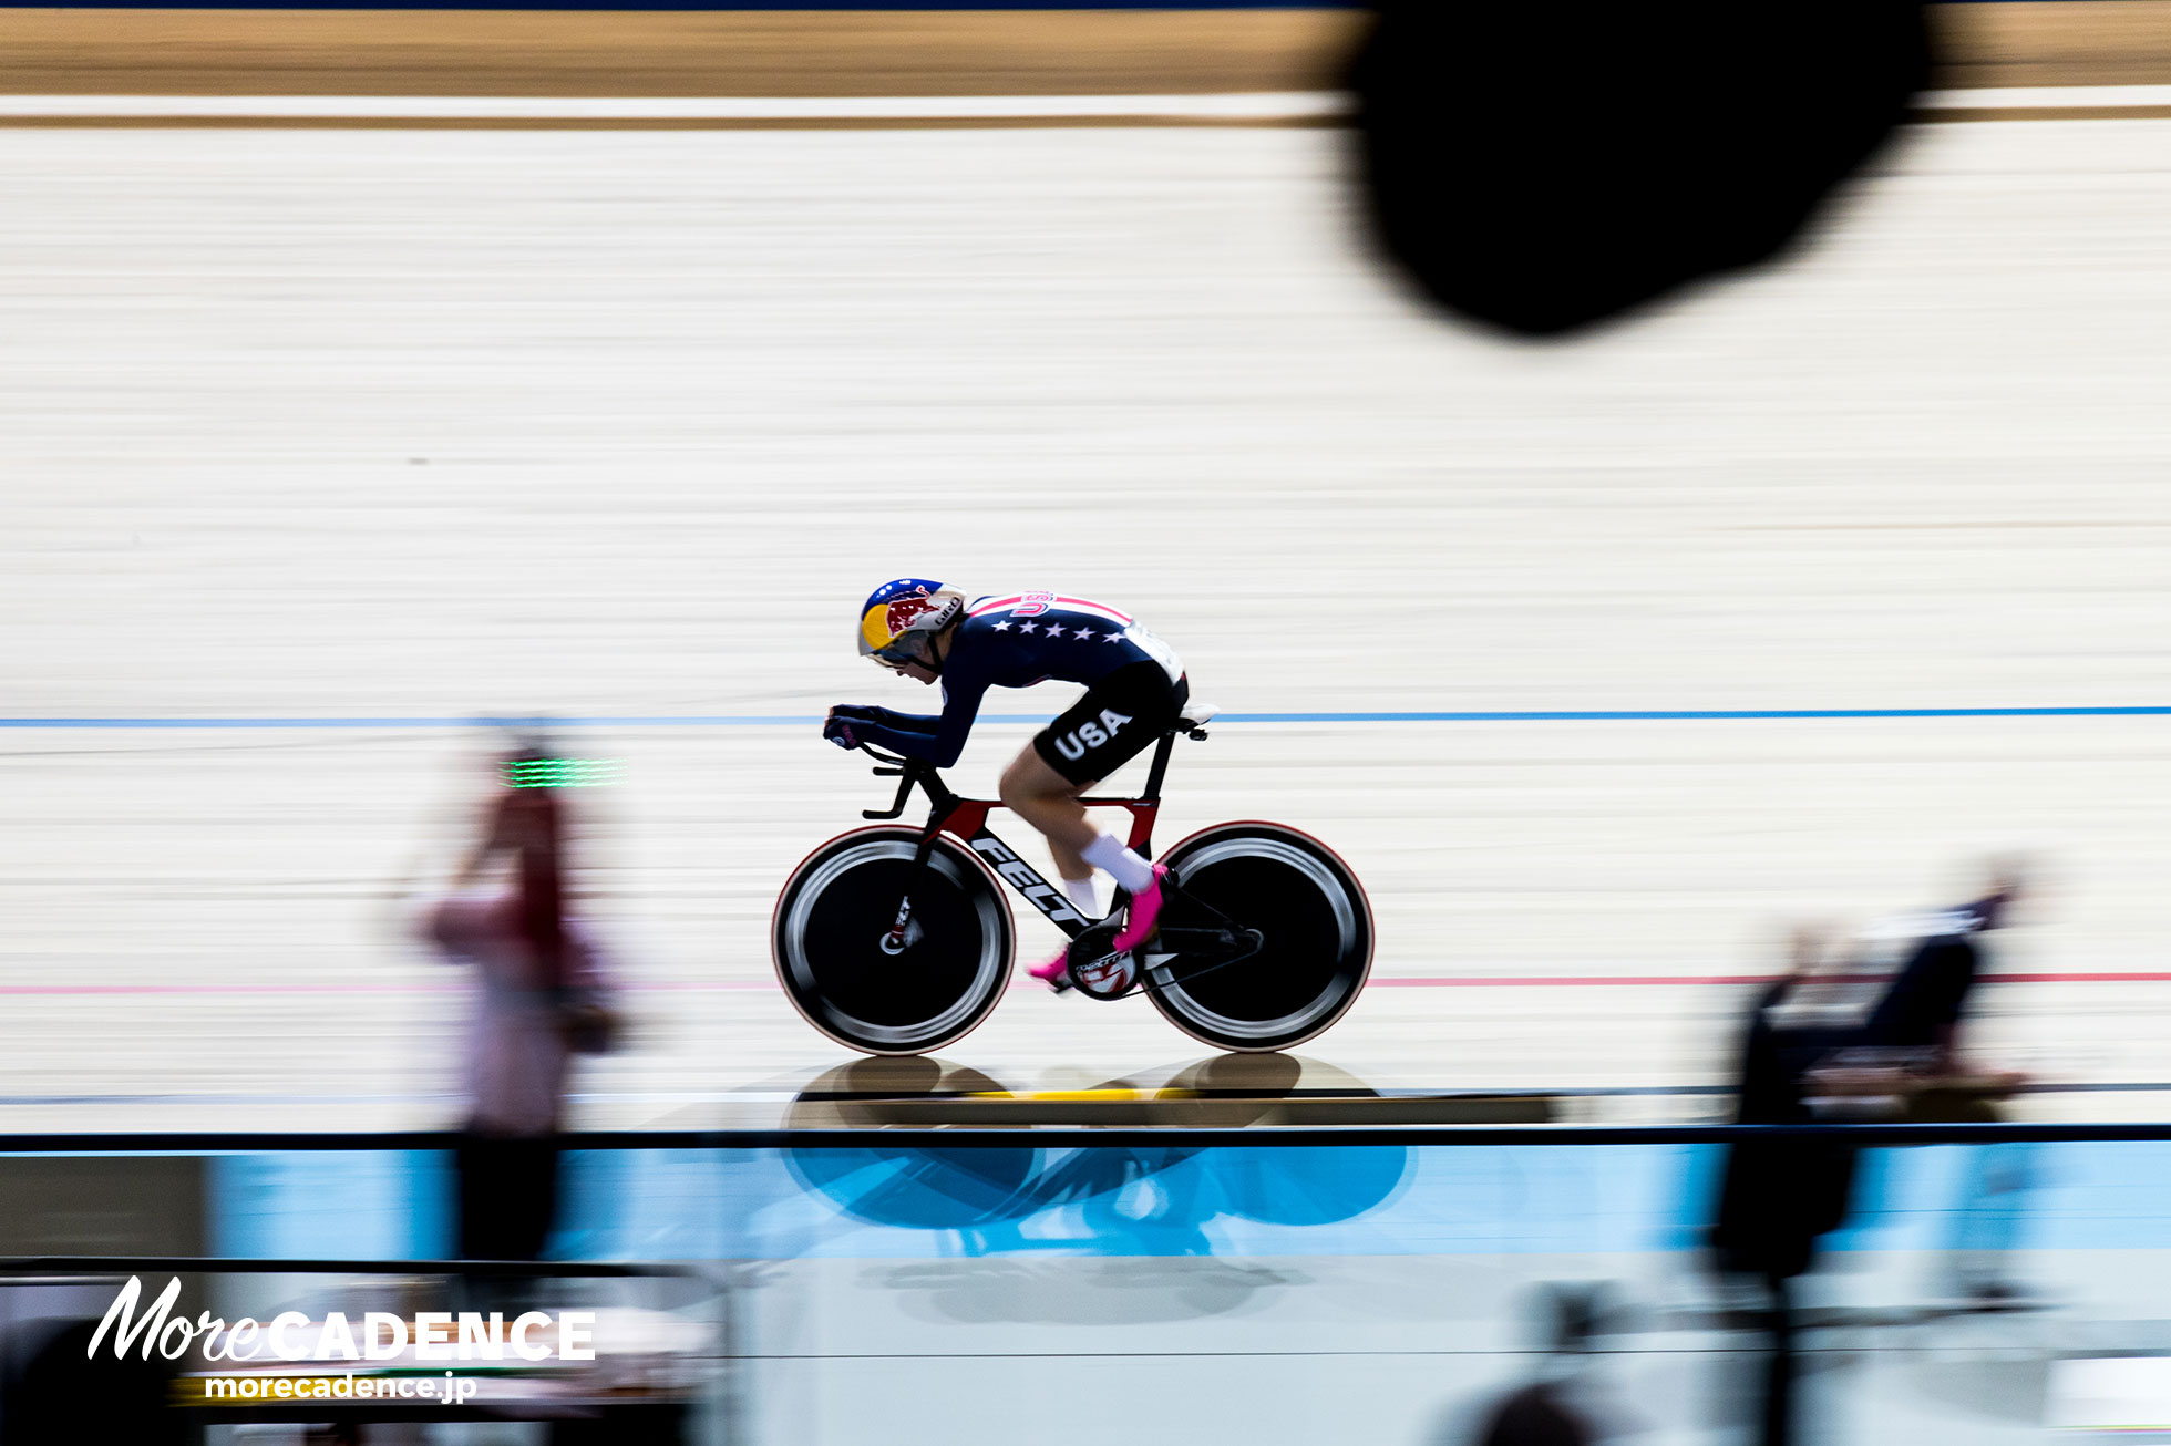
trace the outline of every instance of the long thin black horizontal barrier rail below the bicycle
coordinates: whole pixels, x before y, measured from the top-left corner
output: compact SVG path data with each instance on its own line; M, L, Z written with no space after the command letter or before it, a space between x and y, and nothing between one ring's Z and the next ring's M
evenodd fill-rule
M567 1151L960 1151L960 1149L1320 1149L1496 1144L1735 1144L1819 1140L1858 1146L2171 1140L2171 1120L2119 1125L1264 1125L1190 1127L890 1127L890 1129L606 1129L558 1136ZM72 1133L0 1136L4 1155L234 1155L276 1151L452 1151L460 1136L391 1133Z

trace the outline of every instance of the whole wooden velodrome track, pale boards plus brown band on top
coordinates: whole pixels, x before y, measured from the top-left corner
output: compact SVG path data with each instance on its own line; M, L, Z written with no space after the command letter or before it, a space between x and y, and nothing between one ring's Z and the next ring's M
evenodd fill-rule
M1954 85L2171 80L2158 4L1947 15ZM0 11L0 91L1305 91L1348 26ZM625 766L582 803L638 1020L584 1122L838 1064L764 931L884 786L762 719L921 701L842 640L899 571L1105 595L1201 697L1309 714L1185 745L1166 840L1281 816L1370 881L1376 986L1320 1070L1704 1086L1785 921L2019 845L2052 890L1986 1049L2171 1079L2171 716L1999 712L2171 703L2145 115L1921 126L1793 265L1544 350L1370 267L1331 128L17 126L0 1122L447 1120L462 997L399 901L460 847L475 712L630 719L569 732ZM1904 712L1941 708L1991 716ZM1789 716L1379 716L1620 710ZM953 1057L1198 1053L1020 990Z

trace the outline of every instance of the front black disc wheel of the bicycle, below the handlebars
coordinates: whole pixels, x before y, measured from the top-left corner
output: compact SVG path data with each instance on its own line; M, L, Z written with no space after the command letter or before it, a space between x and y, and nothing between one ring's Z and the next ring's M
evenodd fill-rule
M888 949L918 829L858 829L808 855L771 925L777 979L810 1025L871 1055L923 1055L988 1018L1010 981L1010 908L988 868L936 838Z

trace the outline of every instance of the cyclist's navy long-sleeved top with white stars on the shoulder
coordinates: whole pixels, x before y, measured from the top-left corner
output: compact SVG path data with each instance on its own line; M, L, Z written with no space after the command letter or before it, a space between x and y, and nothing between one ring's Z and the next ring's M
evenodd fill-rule
M1129 614L1083 597L1014 593L977 597L942 660L938 716L853 708L853 734L875 747L949 769L979 716L988 688L1031 688L1059 680L1092 686L1116 669L1151 662L1175 682L1183 667L1168 645Z

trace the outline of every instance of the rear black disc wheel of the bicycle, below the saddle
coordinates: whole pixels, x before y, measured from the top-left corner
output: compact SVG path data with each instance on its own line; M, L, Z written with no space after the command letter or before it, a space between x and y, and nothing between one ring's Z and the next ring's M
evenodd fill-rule
M1292 1049L1357 1001L1372 973L1372 905L1333 849L1279 823L1222 823L1166 862L1177 890L1164 929L1227 923L1264 936L1250 957L1194 977L1183 955L1168 960L1175 979L1151 994L1177 1029L1218 1049Z

